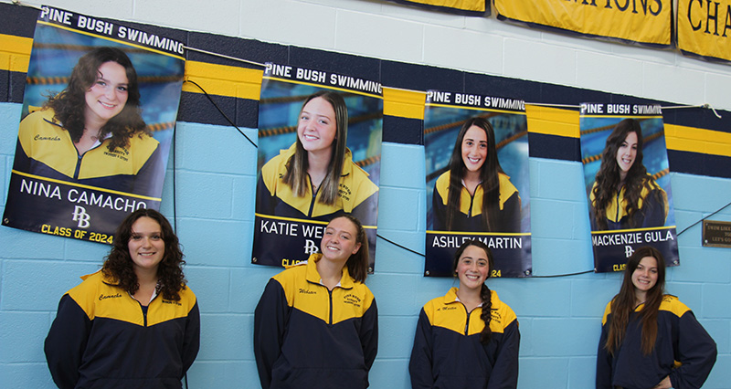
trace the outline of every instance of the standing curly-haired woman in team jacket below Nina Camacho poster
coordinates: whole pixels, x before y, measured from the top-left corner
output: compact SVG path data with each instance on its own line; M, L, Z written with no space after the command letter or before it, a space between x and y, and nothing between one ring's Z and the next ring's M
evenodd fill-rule
M58 304L46 359L59 388L180 388L196 360L200 317L173 228L159 212L127 216L101 271Z

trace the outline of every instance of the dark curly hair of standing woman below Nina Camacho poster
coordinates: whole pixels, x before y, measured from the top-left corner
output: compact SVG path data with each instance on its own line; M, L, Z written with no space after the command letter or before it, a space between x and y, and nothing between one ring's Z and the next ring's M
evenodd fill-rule
M163 260L157 267L161 293L165 300L180 300L179 292L185 289L185 275L183 274L183 252L180 250L173 227L163 214L154 209L140 208L127 216L114 233L114 243L109 255L101 267L101 272L119 283L119 287L134 294L140 289L137 274L132 267L130 248L127 246L132 238L132 225L140 217L149 217L160 225L160 232L165 244Z

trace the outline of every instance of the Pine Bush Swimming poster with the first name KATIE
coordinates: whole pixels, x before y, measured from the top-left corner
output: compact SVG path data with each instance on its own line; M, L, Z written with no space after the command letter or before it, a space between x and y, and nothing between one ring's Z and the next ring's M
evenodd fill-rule
M251 262L290 266L320 251L327 223L350 214L376 254L381 84L268 63L259 108Z

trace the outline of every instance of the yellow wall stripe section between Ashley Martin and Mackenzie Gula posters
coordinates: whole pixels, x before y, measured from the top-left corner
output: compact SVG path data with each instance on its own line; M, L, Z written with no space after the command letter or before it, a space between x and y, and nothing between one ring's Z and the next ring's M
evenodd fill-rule
M578 111L525 104L528 131L546 135L578 138Z

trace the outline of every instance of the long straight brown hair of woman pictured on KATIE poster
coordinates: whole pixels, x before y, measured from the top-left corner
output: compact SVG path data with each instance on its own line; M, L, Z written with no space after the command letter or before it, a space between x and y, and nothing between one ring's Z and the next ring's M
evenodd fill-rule
M348 109L345 106L345 100L343 97L330 90L319 90L312 95L308 96L304 103L302 103L302 110L310 100L316 98L323 98L323 100L330 103L335 111L335 139L332 146L332 153L330 155L330 164L328 165L327 174L323 179L323 184L320 187L319 201L325 205L334 205L337 200L337 193L340 185L340 176L343 173L343 164L345 157L345 145L347 144L348 135ZM298 119L299 124L299 119ZM297 136L295 142L294 155L290 157L287 162L287 172L284 173L282 181L284 184L291 186L291 191L302 197L307 194L307 187L309 183L309 177L307 175L307 169L309 167L309 160L307 159L307 151L304 150L300 137Z

